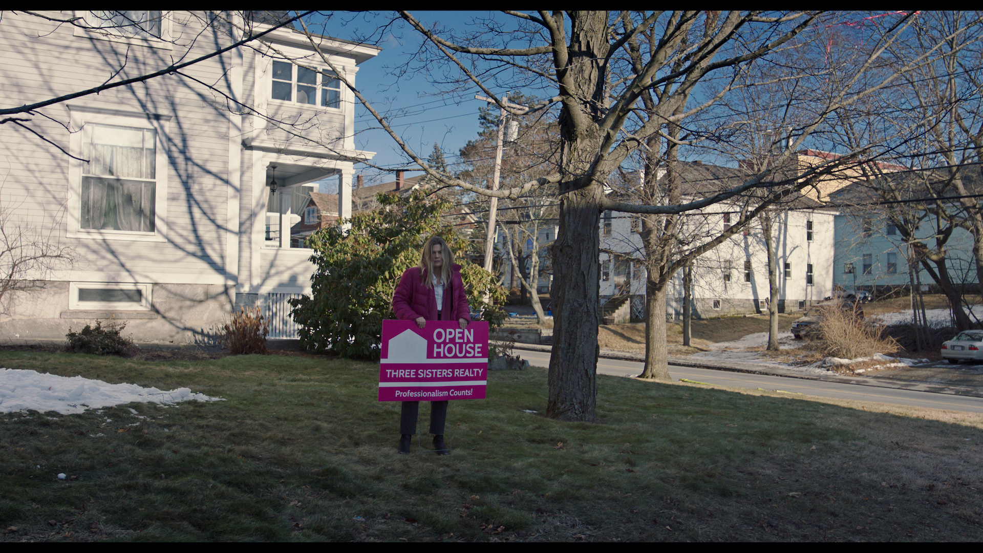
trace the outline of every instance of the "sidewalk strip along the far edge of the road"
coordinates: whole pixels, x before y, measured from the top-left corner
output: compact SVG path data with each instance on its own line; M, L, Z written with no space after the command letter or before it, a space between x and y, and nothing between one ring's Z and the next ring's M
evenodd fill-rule
M551 349L549 345L518 342L515 343L514 348L545 352L549 352ZM602 349L601 357L622 361L637 361L640 363L645 361L645 356L642 354L614 351L611 349ZM754 363L690 360L687 357L679 356L669 356L669 365L983 398L983 369L978 368L981 367L980 365L960 364L953 366L960 367L958 369L948 367L946 369L937 369L935 367L915 366L896 369L894 371L885 371L883 376L870 377L849 377L833 372L829 376L814 376L802 374L793 369L766 367Z

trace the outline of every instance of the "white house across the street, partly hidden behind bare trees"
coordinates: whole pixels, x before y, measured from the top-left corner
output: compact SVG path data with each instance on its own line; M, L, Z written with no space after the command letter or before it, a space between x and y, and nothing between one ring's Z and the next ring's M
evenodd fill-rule
M681 163L684 195L697 198L731 188L747 178L740 168L721 167L699 161ZM832 187L818 194L802 195L781 206L773 233L777 240L779 311L805 309L833 294L836 211L812 196L828 196ZM612 191L612 194L618 194ZM631 195L622 193L622 201ZM683 215L683 236L719 235L736 222L739 208L721 202ZM640 236L640 215L605 212L600 221L602 302L630 301L621 310L620 322L642 321L645 317L646 268ZM768 252L760 221L752 221L693 262L693 311L696 318L761 313L770 296ZM666 293L666 316L682 317L683 275L673 276Z

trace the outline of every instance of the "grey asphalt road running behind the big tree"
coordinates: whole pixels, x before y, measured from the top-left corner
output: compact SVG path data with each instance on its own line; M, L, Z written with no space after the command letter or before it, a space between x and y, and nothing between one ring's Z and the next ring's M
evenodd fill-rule
M521 355L523 359L528 359L532 365L540 367L549 366L549 352L524 349L521 351ZM598 359L598 372L612 376L634 377L642 372L642 363L601 358ZM983 413L983 398L954 396L950 394L678 367L675 365L669 365L669 376L673 380L684 378L731 388L750 388L752 390L762 388L770 391L778 390L821 398L868 400L882 403L896 403L898 405Z

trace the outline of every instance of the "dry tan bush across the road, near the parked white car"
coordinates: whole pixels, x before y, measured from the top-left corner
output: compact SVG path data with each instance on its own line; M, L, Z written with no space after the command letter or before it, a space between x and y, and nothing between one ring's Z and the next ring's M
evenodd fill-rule
M885 335L884 327L865 321L862 315L843 309L839 303L824 308L822 317L819 337L826 355L856 359L897 350L897 342Z

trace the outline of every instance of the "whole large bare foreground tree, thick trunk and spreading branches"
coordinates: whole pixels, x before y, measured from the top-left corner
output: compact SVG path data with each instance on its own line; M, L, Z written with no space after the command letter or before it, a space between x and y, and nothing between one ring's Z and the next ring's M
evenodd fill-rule
M836 14L830 19L839 17ZM776 49L796 44L796 39L808 43L810 37L803 32L821 29L820 24L826 23L820 13L772 16L756 12L539 12L535 15L506 12L503 19L508 20L510 28L496 20L486 22L489 25L485 33L462 30L460 35L454 31L432 30L407 12L400 12L398 18L426 38L419 69L434 70L434 75L439 72L441 82L447 82L445 72L450 67L463 80L452 86L467 83L467 87L477 87L489 97L496 96L492 88L511 90L517 85L549 87L555 92L542 105L522 110L531 112L552 102L559 104L560 162L554 173L496 192L474 183L440 177L446 184L499 198L518 198L534 187L558 185L559 232L552 248L555 323L547 406L551 417L596 418L598 224L602 211L678 215L749 190L768 188L776 190L773 202L780 201L809 186L819 175L838 169L857 155L869 156L872 152L869 146L845 152L835 161L802 171L792 181L777 181L771 173L758 174L739 186L705 197L680 198L669 204L644 206L613 202L605 197L608 176L630 154L644 148L651 137L658 136L669 143L678 140L665 133L666 125L682 125L736 87L746 86L733 79L744 67L763 61ZM796 139L788 145L785 154L799 148L839 107L891 84L898 75L934 55L932 50L906 59L890 72L868 74L884 48L915 19L914 14L893 15L890 23L879 28L879 34L867 43L852 80L839 82L836 88L817 88L811 98L815 115L809 124L796 130ZM630 48L632 40L641 40L647 33L652 39L645 40L644 48L640 48L644 59L640 71L626 73L623 80L616 82L609 79L615 56ZM509 38L521 40L523 44L513 46L519 42L508 42ZM813 77L814 82L820 81ZM496 79L507 81L508 86L499 87ZM406 145L365 96L350 88L403 152L431 172L427 162ZM695 90L704 92L698 96L699 100L691 99L697 97L692 95ZM644 118L637 118L642 96L652 91L660 91L658 102L647 109ZM762 202L741 215L738 222L746 223L767 209L767 205L767 200ZM736 230L718 238L726 239L733 232ZM665 278L671 273L666 272Z

